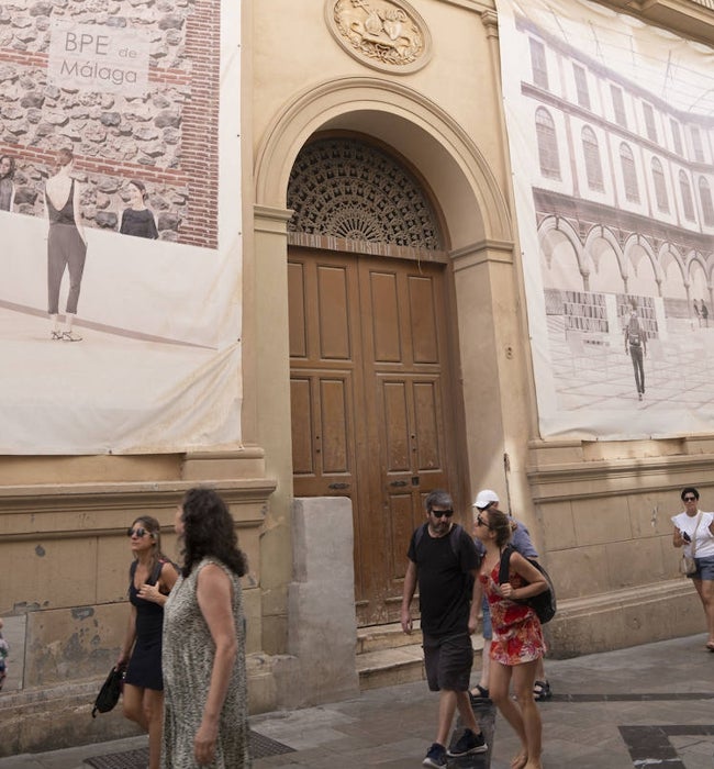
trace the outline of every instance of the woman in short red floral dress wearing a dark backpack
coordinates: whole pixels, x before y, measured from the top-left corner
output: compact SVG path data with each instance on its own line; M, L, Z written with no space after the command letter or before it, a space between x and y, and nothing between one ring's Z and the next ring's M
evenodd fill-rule
M542 725L533 699L536 661L545 654L540 622L525 603L547 590L540 572L520 553L512 553L509 581L499 584L501 553L511 538L511 522L500 510L484 510L476 516L473 534L483 543L486 555L479 581L491 610L490 694L522 744L511 761L512 769L542 769ZM511 680L515 701L509 696Z

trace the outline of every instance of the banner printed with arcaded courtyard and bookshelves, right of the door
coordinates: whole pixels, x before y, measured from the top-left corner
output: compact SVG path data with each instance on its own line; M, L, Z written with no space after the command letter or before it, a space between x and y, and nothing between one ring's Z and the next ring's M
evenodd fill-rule
M540 434L714 430L714 51L499 0Z

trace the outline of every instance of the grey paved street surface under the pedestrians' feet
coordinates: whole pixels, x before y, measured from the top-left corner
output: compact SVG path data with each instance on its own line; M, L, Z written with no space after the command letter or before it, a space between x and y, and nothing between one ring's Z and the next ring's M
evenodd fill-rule
M547 660L554 696L538 705L544 769L712 769L714 654L704 649L705 640L698 635ZM277 744L289 750L257 758L254 769L420 767L434 739L437 700L425 682L417 682L319 707L254 716L255 735L268 747ZM488 710L480 715L490 717ZM484 726L488 734L491 726ZM499 715L492 729L491 769L510 769L517 740ZM88 769L88 758L145 745L146 738L140 737L14 756L0 759L0 769ZM476 766L488 765L481 760Z

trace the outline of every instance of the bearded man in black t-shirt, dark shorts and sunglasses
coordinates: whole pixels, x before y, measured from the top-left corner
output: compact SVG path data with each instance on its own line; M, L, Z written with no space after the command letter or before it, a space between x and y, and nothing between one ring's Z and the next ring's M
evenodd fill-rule
M436 740L423 765L445 767L447 756L488 749L469 701L471 634L478 622L473 598L480 558L471 537L451 522L454 502L446 491L432 491L424 506L426 523L412 534L409 546L401 618L404 633L411 633L410 605L419 584L426 679L429 690L439 692ZM447 751L457 707L466 732Z

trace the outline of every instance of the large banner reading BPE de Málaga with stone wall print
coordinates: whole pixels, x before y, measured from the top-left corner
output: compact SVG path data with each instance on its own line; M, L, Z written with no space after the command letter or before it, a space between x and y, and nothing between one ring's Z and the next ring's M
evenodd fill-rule
M237 445L241 3L0 18L0 454Z

